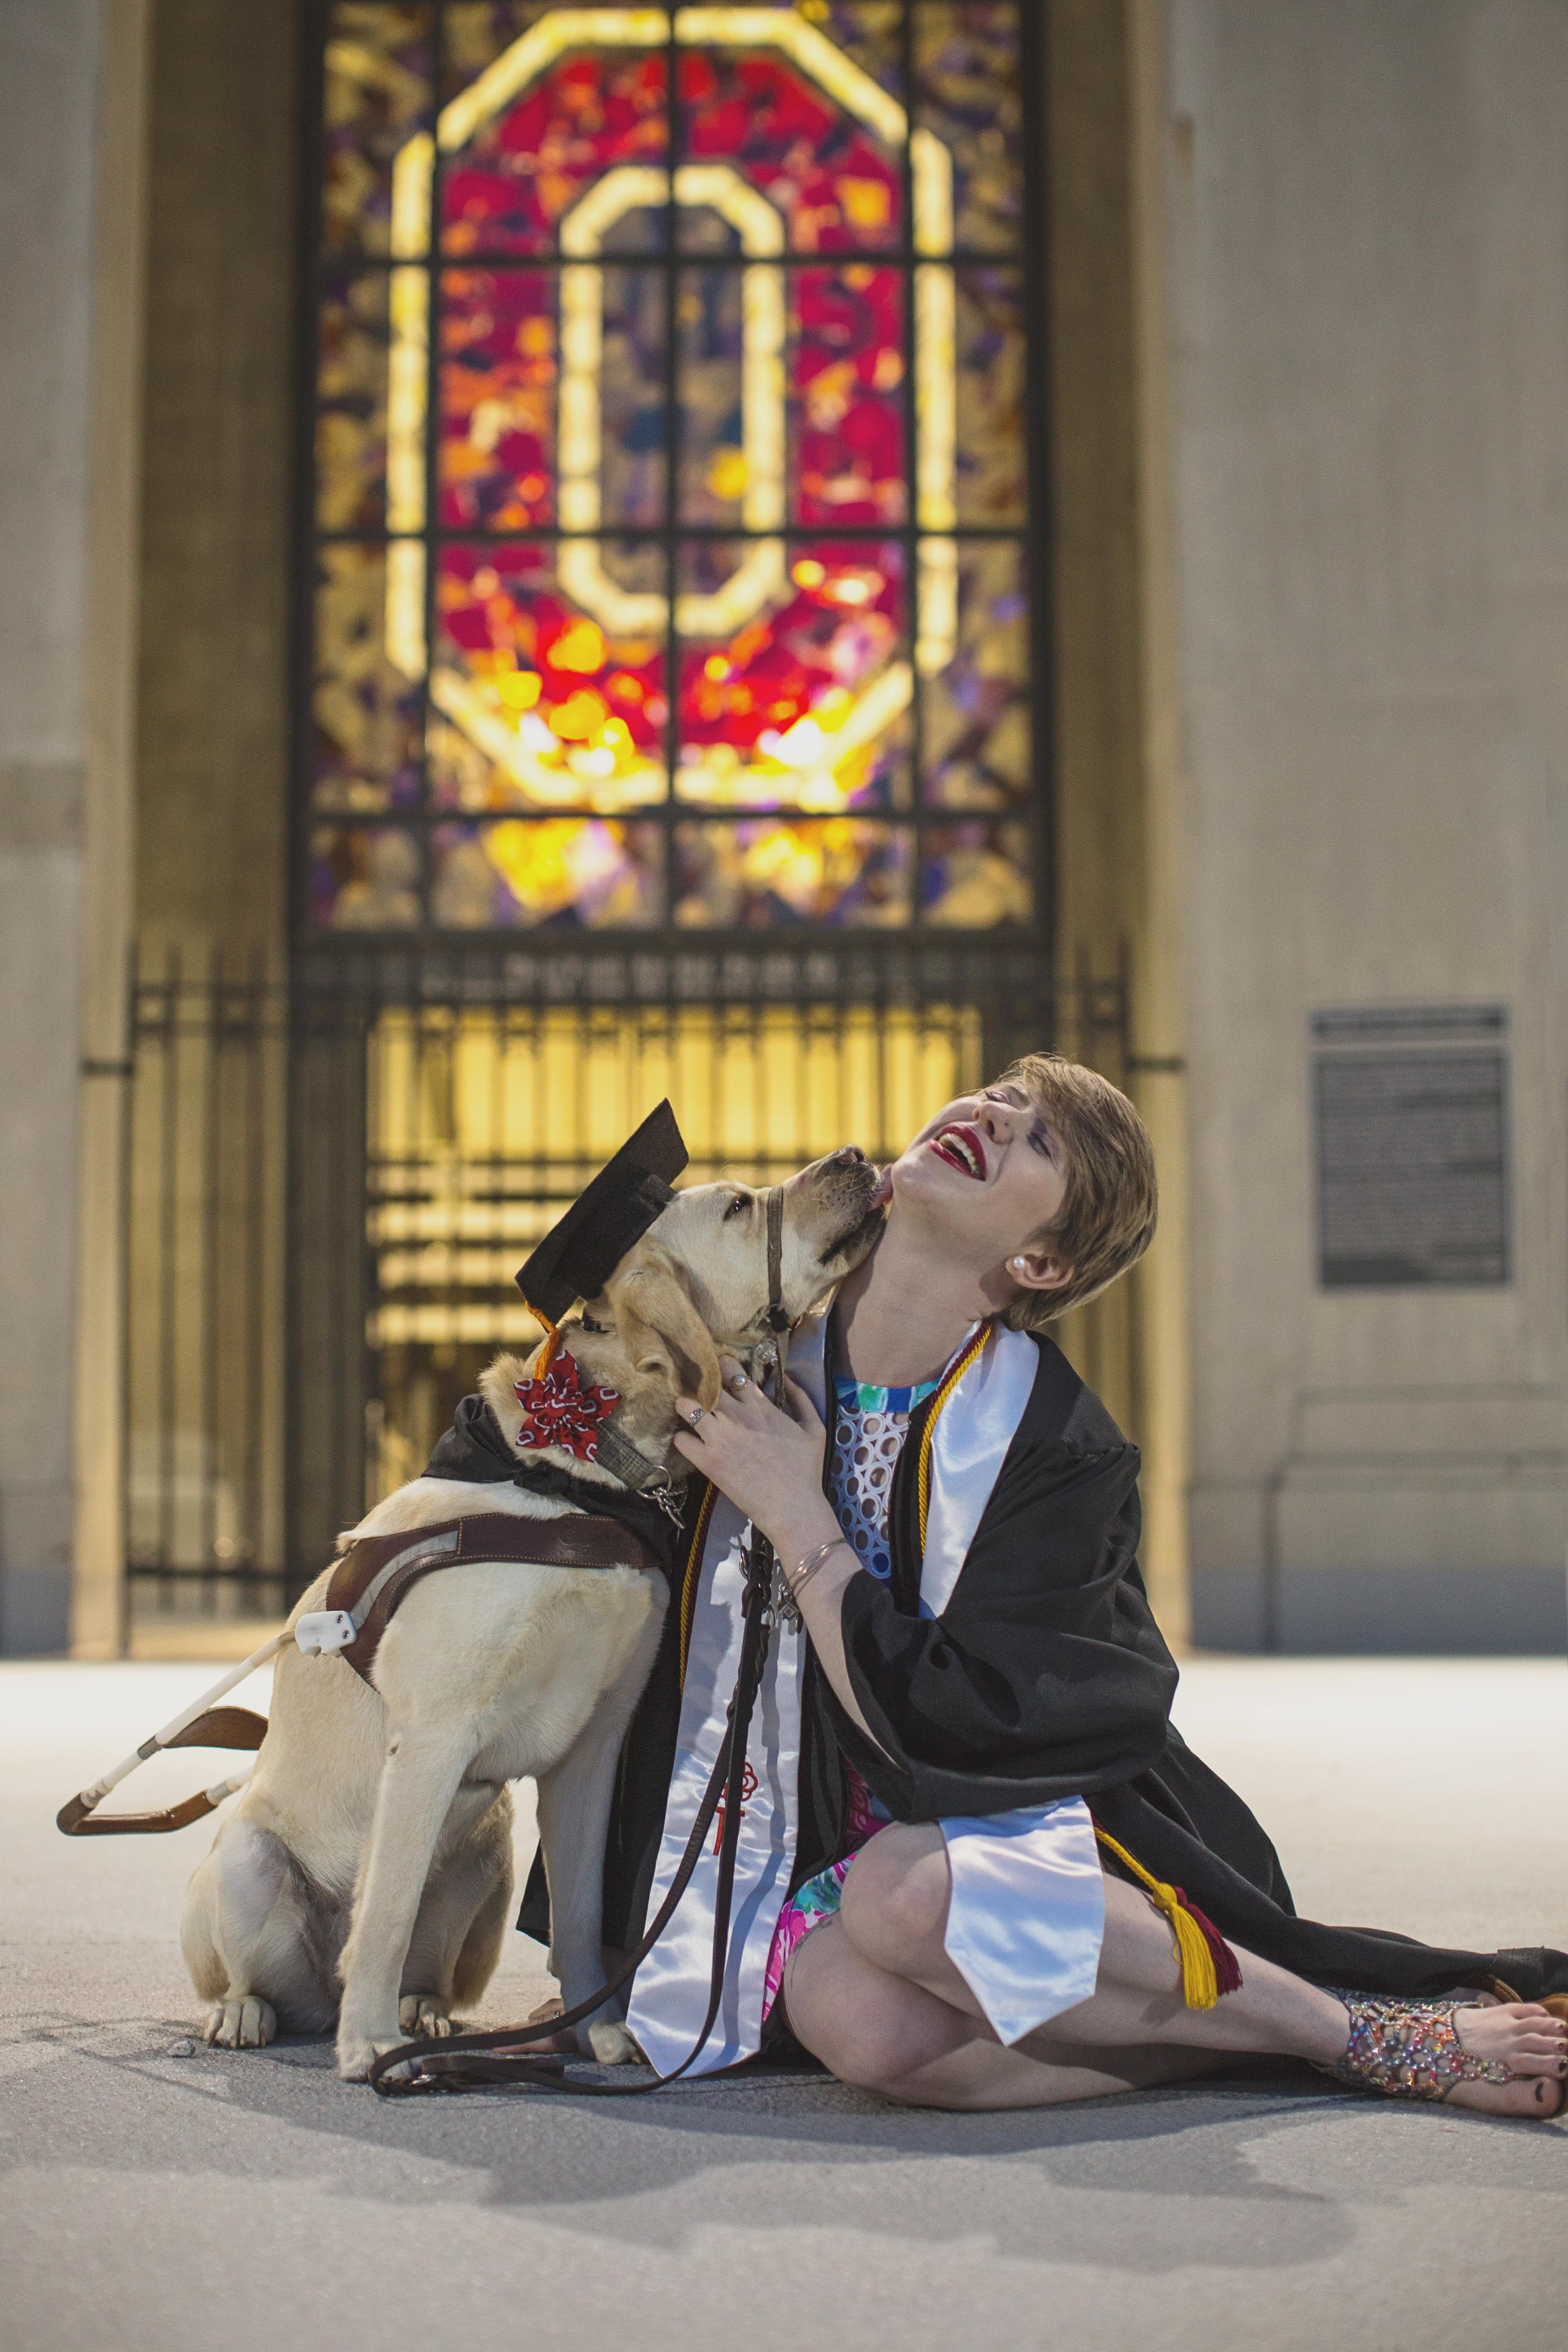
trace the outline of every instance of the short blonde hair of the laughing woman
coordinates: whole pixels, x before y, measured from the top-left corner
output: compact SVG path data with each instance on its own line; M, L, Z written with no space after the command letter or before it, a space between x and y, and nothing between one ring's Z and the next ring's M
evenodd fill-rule
M1006 1312L1016 1331L1041 1331L1098 1298L1154 1240L1159 1185L1150 1131L1119 1087L1063 1054L1020 1054L997 1084L1023 1087L1063 1141L1067 1200L1034 1235L1067 1261L1060 1291L1020 1291Z

